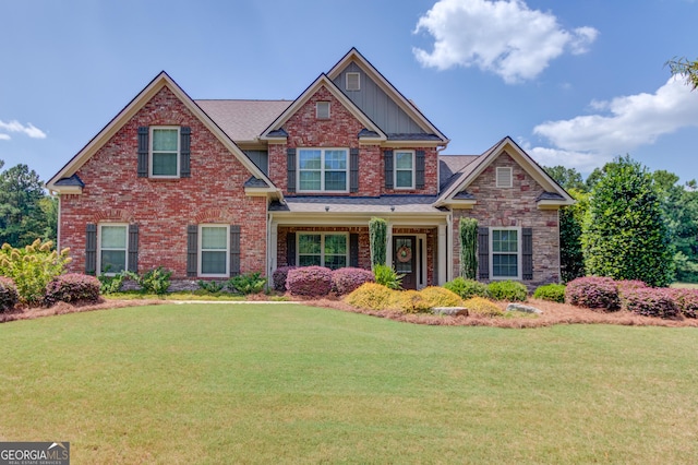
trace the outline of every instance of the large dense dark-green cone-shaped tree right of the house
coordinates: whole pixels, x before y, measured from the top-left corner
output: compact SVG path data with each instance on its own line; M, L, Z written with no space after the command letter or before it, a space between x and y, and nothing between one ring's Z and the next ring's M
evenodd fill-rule
M669 285L674 253L652 176L629 155L606 164L603 172L581 235L587 273Z

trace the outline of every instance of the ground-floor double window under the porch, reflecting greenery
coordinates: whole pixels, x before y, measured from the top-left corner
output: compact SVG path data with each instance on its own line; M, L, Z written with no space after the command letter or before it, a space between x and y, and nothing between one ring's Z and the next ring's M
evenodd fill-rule
M347 233L299 233L298 261L300 266L342 269L349 263Z

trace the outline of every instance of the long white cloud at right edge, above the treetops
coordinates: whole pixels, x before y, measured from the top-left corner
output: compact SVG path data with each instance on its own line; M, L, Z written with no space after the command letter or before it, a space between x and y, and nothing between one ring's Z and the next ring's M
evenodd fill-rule
M527 151L543 165L585 170L681 128L698 127L698 98L678 78L671 78L654 94L594 100L590 108L597 114L537 126L533 133L553 147Z

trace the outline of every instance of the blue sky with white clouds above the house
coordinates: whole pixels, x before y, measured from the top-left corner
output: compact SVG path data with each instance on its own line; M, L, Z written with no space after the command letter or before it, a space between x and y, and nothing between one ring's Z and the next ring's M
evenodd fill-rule
M351 47L450 140L583 174L698 178L698 0L0 0L0 159L48 180L161 70L192 98L293 99Z

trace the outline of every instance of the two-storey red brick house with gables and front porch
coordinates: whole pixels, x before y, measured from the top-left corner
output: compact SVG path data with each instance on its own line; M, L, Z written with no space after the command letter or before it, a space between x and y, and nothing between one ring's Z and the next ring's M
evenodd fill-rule
M47 187L73 272L370 269L382 217L389 261L421 288L459 275L467 216L480 279L557 282L571 198L510 138L480 156L440 155L448 142L351 49L294 100L194 100L163 72Z

